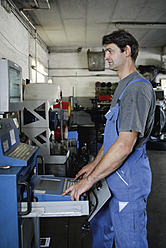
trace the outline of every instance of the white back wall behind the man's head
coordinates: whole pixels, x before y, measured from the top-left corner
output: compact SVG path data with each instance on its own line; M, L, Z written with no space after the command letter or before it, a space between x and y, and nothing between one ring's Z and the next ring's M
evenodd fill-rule
M161 54L159 48L141 49L136 65L161 66ZM82 49L80 53L49 54L49 77L60 85L63 97L72 96L73 87L75 97L94 97L97 81L117 82L116 73L109 70L107 62L105 66L105 71L89 71L87 49Z

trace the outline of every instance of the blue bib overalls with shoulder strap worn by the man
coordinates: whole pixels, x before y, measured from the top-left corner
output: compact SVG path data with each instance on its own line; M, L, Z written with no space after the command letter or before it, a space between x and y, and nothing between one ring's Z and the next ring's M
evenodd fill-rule
M137 78L136 82L149 81ZM116 142L119 135L119 103L106 114L104 151ZM146 144L136 148L123 165L107 178L112 198L91 220L91 248L147 248L146 201L151 191L151 170L146 156Z

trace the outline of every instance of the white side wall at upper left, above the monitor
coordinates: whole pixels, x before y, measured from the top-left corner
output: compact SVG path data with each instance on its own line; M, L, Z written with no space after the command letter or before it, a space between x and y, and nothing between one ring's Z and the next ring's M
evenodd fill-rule
M6 58L22 67L23 79L30 78L30 56L48 67L48 53L36 43L13 13L0 5L0 58Z

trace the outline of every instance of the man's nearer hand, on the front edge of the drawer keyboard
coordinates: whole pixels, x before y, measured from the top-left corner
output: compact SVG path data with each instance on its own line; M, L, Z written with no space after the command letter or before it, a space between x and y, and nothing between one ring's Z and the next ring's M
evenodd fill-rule
M67 188L62 196L67 195L70 192L71 200L74 201L76 199L77 201L79 201L80 196L88 191L92 186L92 182L89 182L88 178L85 177L79 182L76 182L74 185Z

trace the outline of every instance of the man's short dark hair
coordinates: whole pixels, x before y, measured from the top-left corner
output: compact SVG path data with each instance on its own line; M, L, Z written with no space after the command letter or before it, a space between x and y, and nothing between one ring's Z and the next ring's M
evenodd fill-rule
M131 58L135 62L139 52L139 44L130 33L122 29L103 36L102 44L110 43L116 44L121 52L124 52L125 47L129 45L131 47Z

